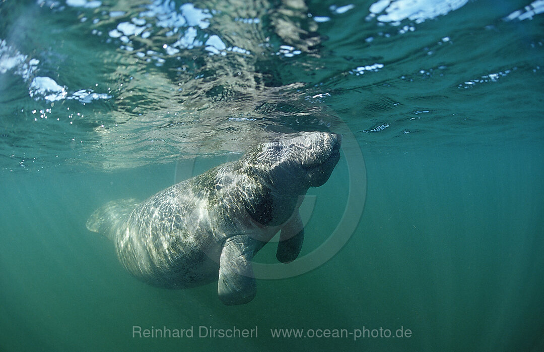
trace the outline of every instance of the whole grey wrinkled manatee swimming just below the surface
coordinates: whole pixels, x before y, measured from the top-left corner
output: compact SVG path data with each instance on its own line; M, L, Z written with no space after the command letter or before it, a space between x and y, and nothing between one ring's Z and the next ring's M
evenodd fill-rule
M144 202L109 202L87 228L112 239L123 266L147 283L189 288L218 280L224 304L245 304L256 294L251 259L279 230L277 259L298 256L301 196L329 179L340 144L341 136L325 132L265 143Z

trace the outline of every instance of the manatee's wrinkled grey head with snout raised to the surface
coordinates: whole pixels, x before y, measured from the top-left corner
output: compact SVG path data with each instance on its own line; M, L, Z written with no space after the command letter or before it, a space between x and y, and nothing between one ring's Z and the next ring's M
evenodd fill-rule
M279 224L293 214L299 196L323 185L340 158L342 137L305 132L264 143L240 159L243 173L255 180L246 209L262 224Z

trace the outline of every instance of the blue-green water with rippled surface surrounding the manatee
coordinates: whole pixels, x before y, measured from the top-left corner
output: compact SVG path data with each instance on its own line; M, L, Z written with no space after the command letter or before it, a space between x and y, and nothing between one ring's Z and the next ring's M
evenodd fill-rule
M523 15L529 1L421 2L455 8L393 26L386 10L367 19L372 1L288 15L280 2L198 2L211 17L186 14L202 44L183 48L189 26L169 34L157 11L140 16L149 3L0 3L0 350L544 349L544 14ZM278 16L311 35L289 38ZM142 18L147 38L108 34ZM261 21L245 31L238 18ZM225 55L206 50L212 35ZM40 91L35 77L61 89ZM258 280L247 305L222 305L215 284L139 282L85 228L108 201L149 197L280 132L328 129L344 149L308 192L302 256L330 238L355 191L363 213L330 260ZM134 326L194 335L139 338ZM257 337L199 337L200 326ZM380 328L411 335L314 336Z

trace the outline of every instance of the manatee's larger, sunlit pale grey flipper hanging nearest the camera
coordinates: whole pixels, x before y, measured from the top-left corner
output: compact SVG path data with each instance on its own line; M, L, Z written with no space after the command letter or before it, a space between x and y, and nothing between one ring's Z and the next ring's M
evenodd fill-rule
M221 252L217 293L225 305L245 304L255 298L257 282L251 259L257 245L249 235L238 235L225 241Z

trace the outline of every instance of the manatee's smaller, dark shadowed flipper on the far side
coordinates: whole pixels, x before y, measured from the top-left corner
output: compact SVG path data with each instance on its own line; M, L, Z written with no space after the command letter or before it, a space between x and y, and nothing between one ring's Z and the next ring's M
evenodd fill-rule
M277 244L276 258L282 263L290 263L299 256L304 241L304 224L298 210L288 223L281 228L280 242Z

